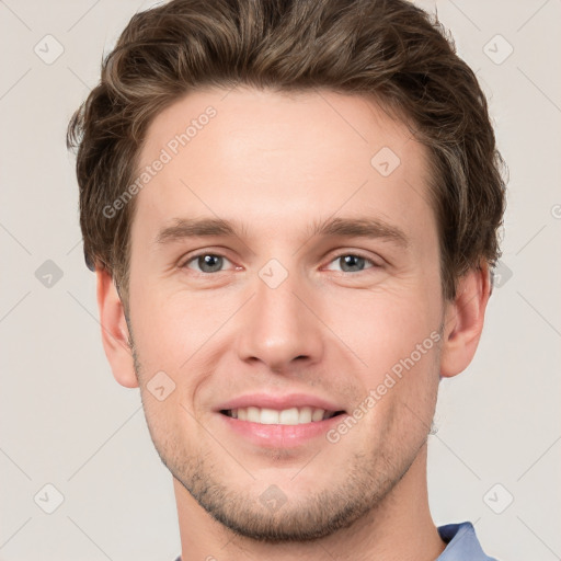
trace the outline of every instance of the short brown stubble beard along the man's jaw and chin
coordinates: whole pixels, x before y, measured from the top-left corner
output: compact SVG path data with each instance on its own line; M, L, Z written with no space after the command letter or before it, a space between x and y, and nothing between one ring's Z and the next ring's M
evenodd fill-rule
M134 344L131 350L135 371L141 380L142 366ZM144 391L141 396L146 413ZM390 431L396 421L390 420ZM376 516L426 442L425 436L417 448L393 453L391 458L383 445L373 447L369 455L354 453L347 470L335 473L329 489L310 491L307 496L291 497L277 510L270 510L262 504L259 494L225 484L218 477L221 470L215 467L208 453L198 448L193 454L176 446L181 440L169 436L159 438L157 423L150 423L149 415L147 425L162 463L215 520L236 535L270 543L321 539L351 527L367 515ZM379 443L386 442L386 437L380 435ZM312 463L320 461L321 454ZM248 474L248 483L252 481ZM289 495L289 490L286 491Z

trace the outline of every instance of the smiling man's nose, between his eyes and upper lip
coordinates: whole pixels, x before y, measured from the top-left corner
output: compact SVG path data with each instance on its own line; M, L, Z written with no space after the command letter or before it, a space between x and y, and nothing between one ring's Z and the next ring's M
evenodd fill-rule
M313 296L297 274L276 288L257 277L255 294L238 318L238 354L245 363L261 363L277 374L293 371L296 363L320 360L324 340L318 293Z

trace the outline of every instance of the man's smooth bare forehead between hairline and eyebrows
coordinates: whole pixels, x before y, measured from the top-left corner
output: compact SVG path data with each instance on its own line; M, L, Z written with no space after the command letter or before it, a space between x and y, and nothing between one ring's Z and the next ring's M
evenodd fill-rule
M257 237L272 228L296 236L337 214L408 231L420 218L434 220L426 169L425 149L407 126L364 96L197 91L148 130L137 175L150 176L137 195L133 236L149 230L153 239L193 216L233 219Z

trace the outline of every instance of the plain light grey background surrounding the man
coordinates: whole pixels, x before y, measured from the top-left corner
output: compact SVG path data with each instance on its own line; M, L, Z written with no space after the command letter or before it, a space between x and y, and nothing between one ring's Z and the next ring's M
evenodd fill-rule
M561 2L417 3L437 8L477 70L511 173L501 279L480 348L442 383L432 512L437 524L472 520L503 561L560 559ZM103 354L65 148L102 53L152 4L0 1L0 560L180 552L171 476L139 390L118 386ZM51 514L48 483L64 496Z

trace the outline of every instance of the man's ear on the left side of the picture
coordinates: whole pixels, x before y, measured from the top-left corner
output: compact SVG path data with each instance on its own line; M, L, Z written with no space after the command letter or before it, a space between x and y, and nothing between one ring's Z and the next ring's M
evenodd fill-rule
M101 337L115 379L125 388L137 388L133 351L125 320L125 310L113 277L104 268L95 272Z

